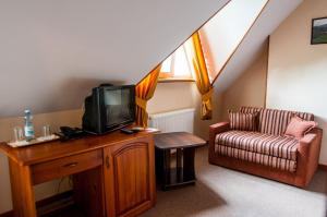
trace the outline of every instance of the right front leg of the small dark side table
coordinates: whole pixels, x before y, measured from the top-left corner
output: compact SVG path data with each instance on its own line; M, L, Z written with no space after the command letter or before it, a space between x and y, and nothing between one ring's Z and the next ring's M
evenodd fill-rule
M195 180L194 157L194 147L183 149L184 181Z

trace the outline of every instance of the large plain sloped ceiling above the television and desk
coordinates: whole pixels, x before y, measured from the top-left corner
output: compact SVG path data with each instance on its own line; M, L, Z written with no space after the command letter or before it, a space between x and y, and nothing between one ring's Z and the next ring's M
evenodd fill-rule
M137 83L229 0L3 0L0 118L81 108Z

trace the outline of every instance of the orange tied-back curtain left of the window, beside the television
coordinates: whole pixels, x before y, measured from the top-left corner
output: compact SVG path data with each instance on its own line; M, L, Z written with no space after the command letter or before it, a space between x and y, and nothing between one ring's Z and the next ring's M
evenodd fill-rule
M157 87L161 64L154 69L136 85L136 124L146 128L148 114L146 104L153 98Z

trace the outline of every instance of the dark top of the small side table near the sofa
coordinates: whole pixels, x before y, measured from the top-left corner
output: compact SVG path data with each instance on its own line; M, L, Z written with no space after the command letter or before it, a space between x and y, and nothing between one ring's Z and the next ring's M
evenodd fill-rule
M206 141L186 132L160 133L155 135L155 145L160 149L203 146Z

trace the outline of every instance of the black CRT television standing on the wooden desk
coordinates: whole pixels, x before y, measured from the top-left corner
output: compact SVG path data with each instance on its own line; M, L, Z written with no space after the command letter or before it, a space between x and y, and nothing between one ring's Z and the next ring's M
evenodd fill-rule
M135 85L101 84L85 98L83 130L94 134L123 128L135 121Z

